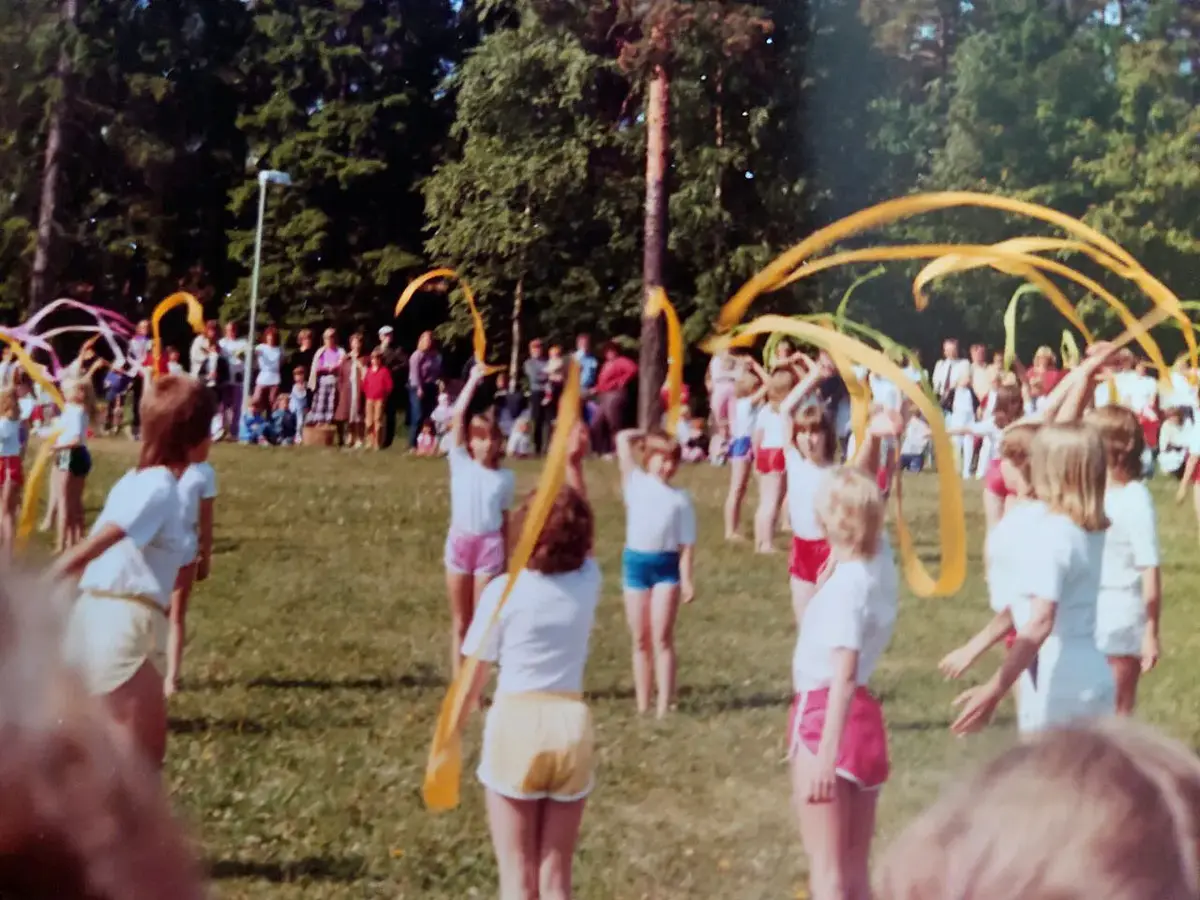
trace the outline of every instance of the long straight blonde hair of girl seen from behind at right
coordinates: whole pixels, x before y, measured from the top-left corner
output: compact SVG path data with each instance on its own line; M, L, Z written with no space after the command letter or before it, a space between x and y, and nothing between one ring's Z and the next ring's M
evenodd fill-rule
M1108 462L1094 428L1080 422L1043 425L1033 437L1030 474L1034 496L1085 532L1109 527L1104 515Z

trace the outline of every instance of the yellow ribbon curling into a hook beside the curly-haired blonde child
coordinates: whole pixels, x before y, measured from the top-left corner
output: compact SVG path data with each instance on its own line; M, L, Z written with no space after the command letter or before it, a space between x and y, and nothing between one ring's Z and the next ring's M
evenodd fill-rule
M920 557L917 556L912 533L904 518L900 502L901 492L898 490L894 496L896 499L896 540L900 545L900 565L908 587L917 596L949 596L956 593L962 587L967 571L966 516L962 509L962 481L959 478L958 467L954 464L954 450L946 431L941 408L884 354L847 335L817 324L787 319L782 316L763 316L739 329L742 335L773 332L792 335L824 348L830 355L838 354L865 366L871 372L893 382L924 414L932 432L934 457L937 464L937 482L941 493L938 530L942 535L942 571L935 580L930 576L925 564L922 563ZM713 338L714 346L720 347L722 340L721 337Z

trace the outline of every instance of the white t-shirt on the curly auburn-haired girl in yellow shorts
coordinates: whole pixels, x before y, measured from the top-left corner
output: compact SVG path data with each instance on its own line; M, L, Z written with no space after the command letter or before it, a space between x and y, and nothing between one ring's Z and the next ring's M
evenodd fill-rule
M463 654L478 653L485 662L499 664L499 694L582 692L600 602L600 566L588 559L562 575L521 571L493 629L492 617L508 581L508 576L497 578L484 589L462 642Z

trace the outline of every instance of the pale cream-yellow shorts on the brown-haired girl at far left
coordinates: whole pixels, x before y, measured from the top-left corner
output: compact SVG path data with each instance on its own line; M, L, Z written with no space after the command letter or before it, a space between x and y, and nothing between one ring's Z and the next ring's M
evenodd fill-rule
M64 654L97 696L112 694L149 660L167 671L167 614L152 601L83 594L67 622Z

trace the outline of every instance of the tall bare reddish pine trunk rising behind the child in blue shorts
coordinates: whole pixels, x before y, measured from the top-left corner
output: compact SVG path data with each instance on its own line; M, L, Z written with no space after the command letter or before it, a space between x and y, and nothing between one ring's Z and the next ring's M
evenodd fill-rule
M662 284L662 257L667 242L667 152L670 151L671 78L662 65L654 67L646 110L646 248L642 254L642 353L640 359L637 421L653 428L661 418L662 382L667 361L662 347L662 319L644 312L654 288Z

